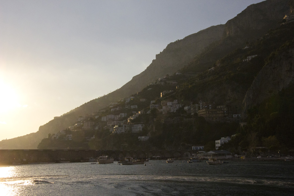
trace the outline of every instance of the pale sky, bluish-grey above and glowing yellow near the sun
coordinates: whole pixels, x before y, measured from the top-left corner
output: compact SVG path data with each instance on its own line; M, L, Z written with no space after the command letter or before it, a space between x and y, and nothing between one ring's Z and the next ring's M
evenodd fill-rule
M0 140L120 88L169 43L258 2L0 0Z

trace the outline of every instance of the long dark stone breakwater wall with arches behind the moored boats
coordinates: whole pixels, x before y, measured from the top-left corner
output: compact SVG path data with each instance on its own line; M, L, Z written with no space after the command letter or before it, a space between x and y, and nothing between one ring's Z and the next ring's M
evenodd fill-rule
M114 159L133 158L190 158L194 150L0 150L0 165L10 165L16 161L21 163L80 162L85 158L96 158L107 155Z

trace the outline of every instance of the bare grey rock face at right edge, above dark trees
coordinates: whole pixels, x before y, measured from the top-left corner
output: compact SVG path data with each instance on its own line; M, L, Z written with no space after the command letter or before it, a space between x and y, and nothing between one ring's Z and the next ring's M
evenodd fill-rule
M294 82L294 44L265 65L254 79L243 100L243 114Z

